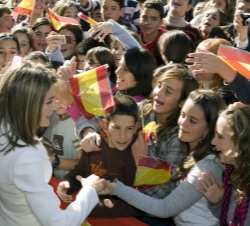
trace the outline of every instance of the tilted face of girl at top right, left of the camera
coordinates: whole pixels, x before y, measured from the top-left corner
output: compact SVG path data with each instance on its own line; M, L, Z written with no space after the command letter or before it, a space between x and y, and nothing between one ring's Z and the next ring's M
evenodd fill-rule
M205 34L210 34L214 27L220 26L220 14L215 9L209 9L205 12L202 22L201 31Z

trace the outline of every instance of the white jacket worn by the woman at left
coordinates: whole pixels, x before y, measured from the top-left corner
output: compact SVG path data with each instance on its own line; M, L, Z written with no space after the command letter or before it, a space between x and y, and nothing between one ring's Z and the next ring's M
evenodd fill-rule
M4 142L0 137L0 144ZM81 225L99 201L95 190L85 186L75 202L60 210L60 201L48 185L51 174L51 163L41 143L15 148L6 155L0 152L1 226Z

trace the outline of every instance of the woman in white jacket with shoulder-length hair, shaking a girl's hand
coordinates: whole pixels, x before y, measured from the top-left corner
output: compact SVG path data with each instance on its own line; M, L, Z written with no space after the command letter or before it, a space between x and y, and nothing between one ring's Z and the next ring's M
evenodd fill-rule
M60 210L48 182L52 168L36 137L56 108L56 78L31 62L9 68L0 80L0 225L81 225L98 203L96 176L79 178L76 201Z

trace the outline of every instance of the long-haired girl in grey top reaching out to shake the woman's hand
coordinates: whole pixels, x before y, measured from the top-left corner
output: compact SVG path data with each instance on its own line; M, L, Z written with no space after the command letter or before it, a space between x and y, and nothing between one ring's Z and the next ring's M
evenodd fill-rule
M155 199L138 193L133 188L115 182L103 181L106 189L100 194L113 194L146 213L166 218L174 216L177 226L217 225L216 219L207 207L207 200L196 191L198 178L203 171L211 170L216 181L220 180L222 166L215 160L211 140L218 111L223 100L213 91L196 90L185 101L178 120L180 141L188 146L189 155L182 159L177 169L179 185L164 199ZM172 178L174 179L174 178Z

